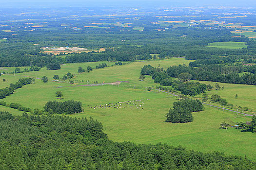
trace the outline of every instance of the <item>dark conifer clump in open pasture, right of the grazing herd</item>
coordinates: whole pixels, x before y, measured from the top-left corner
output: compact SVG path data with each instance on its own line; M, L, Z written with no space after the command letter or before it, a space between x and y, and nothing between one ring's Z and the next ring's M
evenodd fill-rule
M187 123L193 121L191 112L203 111L203 104L199 100L183 99L173 103L173 108L166 114L165 122Z

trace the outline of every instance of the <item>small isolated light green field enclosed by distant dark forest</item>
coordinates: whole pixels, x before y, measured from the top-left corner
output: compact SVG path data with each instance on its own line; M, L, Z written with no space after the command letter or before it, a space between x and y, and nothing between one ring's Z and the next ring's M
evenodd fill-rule
M216 48L222 48L222 49L241 49L241 48L247 48L247 45L244 42L214 42L209 43L207 47L216 47Z

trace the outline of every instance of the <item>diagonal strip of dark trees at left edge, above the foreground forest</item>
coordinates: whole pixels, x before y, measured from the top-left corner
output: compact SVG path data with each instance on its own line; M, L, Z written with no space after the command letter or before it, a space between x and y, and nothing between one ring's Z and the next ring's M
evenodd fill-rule
M1 88L0 89L0 99L5 98L14 93L14 90L21 88L22 85L29 85L35 82L34 78L22 78L19 79L18 82L15 84L11 83L9 87Z

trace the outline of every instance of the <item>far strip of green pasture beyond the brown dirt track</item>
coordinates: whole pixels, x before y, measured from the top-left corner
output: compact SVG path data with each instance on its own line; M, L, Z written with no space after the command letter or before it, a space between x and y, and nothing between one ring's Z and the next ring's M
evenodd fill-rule
M171 58L171 59L165 59L165 60L146 60L146 61L136 61L136 62L128 62L122 66L116 66L116 62L108 62L108 61L101 61L101 62L88 62L88 63L74 63L74 64L65 64L61 66L61 69L59 70L47 70L45 67L41 68L40 71L32 71L32 72L26 72L26 73L19 73L15 74L16 76L29 76L34 78L41 78L43 76L47 76L49 79L52 79L54 75L59 75L61 78L63 75L65 75L68 72L71 72L75 77L73 80L80 80L84 81L83 84L86 84L85 81L89 80L90 83L94 81L98 81L98 83L106 82L106 83L112 83L116 81L130 81L132 83L135 83L136 85L154 85L153 81L151 79L151 76L147 76L145 81L140 82L138 77L140 74L140 70L144 65L152 65L154 67L159 68L167 68L174 65L179 64L186 64L188 65L188 60L185 60L184 58ZM83 69L86 69L87 66L91 66L92 68L95 68L97 65L106 63L108 66L113 67L107 67L107 68L99 68L94 69L91 72L83 72L78 73L78 68L82 67ZM79 83L81 84L81 83Z

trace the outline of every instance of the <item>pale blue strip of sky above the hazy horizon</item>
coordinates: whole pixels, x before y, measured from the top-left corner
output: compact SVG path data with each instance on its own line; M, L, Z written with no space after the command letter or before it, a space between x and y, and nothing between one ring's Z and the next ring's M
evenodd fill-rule
M256 0L0 0L0 7L86 6L238 6L256 7Z

